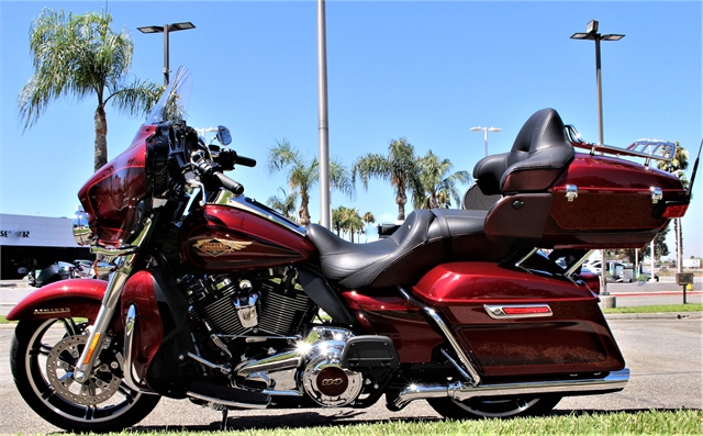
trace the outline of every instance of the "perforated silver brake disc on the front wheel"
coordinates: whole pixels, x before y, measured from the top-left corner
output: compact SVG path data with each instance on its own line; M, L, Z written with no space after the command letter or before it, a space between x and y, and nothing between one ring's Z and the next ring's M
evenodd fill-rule
M65 337L54 345L46 358L46 376L56 394L83 406L109 400L122 382L105 364L97 366L85 384L74 380L74 370L87 340L85 335Z

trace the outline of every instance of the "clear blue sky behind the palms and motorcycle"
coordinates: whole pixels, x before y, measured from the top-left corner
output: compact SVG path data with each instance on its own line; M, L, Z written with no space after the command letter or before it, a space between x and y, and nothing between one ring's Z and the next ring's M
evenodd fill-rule
M449 158L471 170L489 153L506 152L535 111L555 108L585 139L598 141L594 47L574 32L600 21L604 142L679 141L692 154L702 132L700 1L334 1L327 0L330 150L346 165L386 153L406 137L416 154ZM92 172L94 98L52 104L22 132L16 96L32 74L29 30L43 7L82 13L105 8L114 29L134 41L132 72L161 82L163 36L137 26L191 21L170 35L170 65L193 75L191 125L226 125L256 169L230 174L266 201L286 187L264 168L266 152L287 138L317 153L315 1L1 1L0 211L67 216ZM143 120L108 108L110 157L126 147ZM693 157L691 158L693 160ZM287 189L287 187L286 187ZM703 176L684 217L684 257L703 256ZM311 202L319 219L319 193ZM333 192L333 206L377 217L395 214L390 189L372 181L354 199ZM406 213L410 212L410 208ZM673 250L673 243L670 249Z

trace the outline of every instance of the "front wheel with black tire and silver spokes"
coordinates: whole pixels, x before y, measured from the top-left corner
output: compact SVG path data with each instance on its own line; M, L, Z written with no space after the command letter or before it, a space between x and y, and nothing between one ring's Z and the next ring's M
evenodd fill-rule
M75 318L20 321L10 349L20 394L40 416L69 432L114 432L136 424L160 396L127 388L119 364L121 347L100 354L86 384L74 381L88 338L85 324Z

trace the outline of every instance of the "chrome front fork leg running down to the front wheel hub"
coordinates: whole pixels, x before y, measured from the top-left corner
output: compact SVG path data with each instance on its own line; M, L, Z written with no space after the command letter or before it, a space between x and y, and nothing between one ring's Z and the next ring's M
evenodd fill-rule
M120 302L120 295L124 289L124 284L132 275L132 269L136 262L137 251L142 244L147 239L147 235L152 228L152 219L147 219L144 223L142 232L137 235L133 245L125 248L99 248L92 247L91 253L102 254L107 257L115 258L115 262L119 265L118 269L110 275L108 281L108 288L102 297L102 303L100 305L100 312L96 317L94 325L89 328L88 342L86 348L78 359L78 365L74 370L74 380L79 383L86 383L90 379L92 369L96 365L96 359L100 355L100 350L103 346L108 346L105 342L107 332L112 323L112 318L118 310Z

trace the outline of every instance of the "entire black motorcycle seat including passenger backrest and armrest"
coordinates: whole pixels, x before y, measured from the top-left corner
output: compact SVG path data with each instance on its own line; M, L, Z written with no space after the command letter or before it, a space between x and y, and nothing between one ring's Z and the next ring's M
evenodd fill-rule
M347 289L412 283L443 262L499 261L542 237L553 204L547 189L572 158L561 119L543 109L527 120L510 153L476 165L482 193L500 195L490 210L417 210L392 236L369 244L349 243L316 224L308 238L324 276Z

